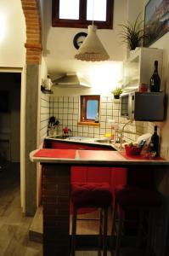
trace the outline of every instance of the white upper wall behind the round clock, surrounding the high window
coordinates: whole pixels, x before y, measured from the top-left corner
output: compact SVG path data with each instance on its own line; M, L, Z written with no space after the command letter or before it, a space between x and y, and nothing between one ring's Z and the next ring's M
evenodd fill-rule
M44 2L43 55L47 61L49 73L82 72L87 73L96 63L74 59L76 49L73 38L77 32L87 32L83 28L52 27L52 0ZM126 0L114 1L113 30L100 29L97 34L110 55L111 61L122 61L126 55L126 46L121 44L119 23L126 20ZM109 63L109 61L105 61ZM97 63L98 64L98 63Z

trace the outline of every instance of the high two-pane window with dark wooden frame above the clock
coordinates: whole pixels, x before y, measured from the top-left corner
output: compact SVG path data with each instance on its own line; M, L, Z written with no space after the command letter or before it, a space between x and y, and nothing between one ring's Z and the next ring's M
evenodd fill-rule
M113 0L53 0L52 26L99 28L113 26Z

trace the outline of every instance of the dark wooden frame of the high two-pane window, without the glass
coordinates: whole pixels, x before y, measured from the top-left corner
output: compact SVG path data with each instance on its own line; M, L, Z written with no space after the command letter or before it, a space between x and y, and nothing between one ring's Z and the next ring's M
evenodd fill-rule
M106 7L106 20L98 21L94 20L94 25L100 29L112 29L113 28L113 8L114 0L107 0ZM92 24L92 20L87 20L87 0L80 0L79 6L79 20L67 20L59 19L59 0L52 1L52 26L59 27L77 27L87 28Z

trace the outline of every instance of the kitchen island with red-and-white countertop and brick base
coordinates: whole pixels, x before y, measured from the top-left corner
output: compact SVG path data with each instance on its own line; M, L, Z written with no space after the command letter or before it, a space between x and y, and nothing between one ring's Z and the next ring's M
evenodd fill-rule
M148 169L163 175L169 166L167 160L130 158L106 150L42 148L31 152L30 157L31 161L42 164L43 255L51 256L70 255L71 166L127 167L144 175ZM161 247L165 242L165 237L161 238Z

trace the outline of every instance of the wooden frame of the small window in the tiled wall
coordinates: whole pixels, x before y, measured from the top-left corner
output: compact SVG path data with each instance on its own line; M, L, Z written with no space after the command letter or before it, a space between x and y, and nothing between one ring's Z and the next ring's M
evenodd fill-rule
M87 95L81 96L81 122L94 123L95 119L87 119L87 101L98 101L98 113L100 109L100 96L99 95Z

